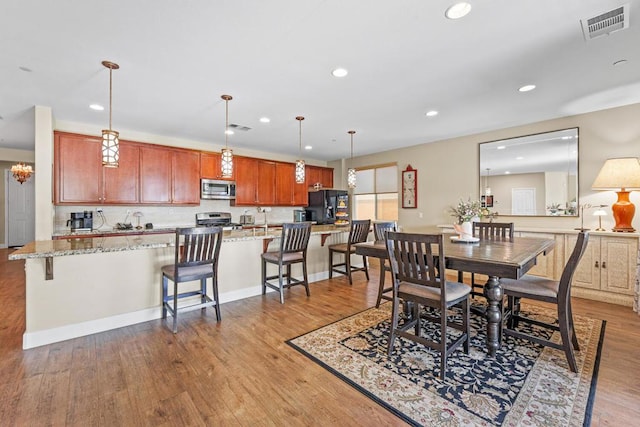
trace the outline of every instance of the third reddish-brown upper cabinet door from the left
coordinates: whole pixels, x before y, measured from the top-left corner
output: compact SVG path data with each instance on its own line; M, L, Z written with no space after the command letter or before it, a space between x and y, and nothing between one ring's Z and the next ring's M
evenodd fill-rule
M171 203L172 150L140 147L140 203Z

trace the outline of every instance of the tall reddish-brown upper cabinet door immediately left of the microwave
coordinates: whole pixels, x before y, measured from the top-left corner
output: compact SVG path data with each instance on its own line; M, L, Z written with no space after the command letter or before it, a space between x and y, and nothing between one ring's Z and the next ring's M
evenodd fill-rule
M185 205L200 204L200 153L174 151L171 165L171 201Z

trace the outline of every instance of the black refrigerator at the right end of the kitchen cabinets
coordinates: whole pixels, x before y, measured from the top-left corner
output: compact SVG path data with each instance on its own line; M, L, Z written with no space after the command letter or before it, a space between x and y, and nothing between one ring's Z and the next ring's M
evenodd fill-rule
M309 191L307 221L318 224L349 224L349 194L344 190Z

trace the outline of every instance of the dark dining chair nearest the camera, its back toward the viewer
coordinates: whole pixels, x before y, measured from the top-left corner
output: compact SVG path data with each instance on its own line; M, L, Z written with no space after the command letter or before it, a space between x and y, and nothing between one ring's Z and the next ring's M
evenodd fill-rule
M435 349L440 352L440 378L444 379L449 355L461 345L464 352L469 354L471 287L447 281L444 275L438 275L437 265L445 265L442 234L387 232L386 243L393 278L393 308L387 353L393 355L393 345L398 336ZM401 300L411 306L411 315L400 326ZM435 310L427 313L421 310L421 306ZM460 322L447 316L453 307L460 308ZM421 319L439 324L440 337L423 336ZM413 333L409 332L412 328ZM457 329L460 334L449 337L448 328Z

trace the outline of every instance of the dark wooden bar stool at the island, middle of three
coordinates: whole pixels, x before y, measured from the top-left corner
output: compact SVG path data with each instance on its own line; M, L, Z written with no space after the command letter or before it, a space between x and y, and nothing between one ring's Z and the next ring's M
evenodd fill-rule
M284 304L284 289L294 285L303 285L309 293L309 279L307 277L307 246L311 236L310 222L295 222L282 224L280 248L277 251L264 252L262 258L262 295L267 287L280 293L280 303ZM278 274L267 276L267 264L276 264ZM291 277L291 265L302 264L302 279ZM286 273L283 270L286 267ZM278 285L270 280L278 279ZM286 279L286 283L285 283Z

